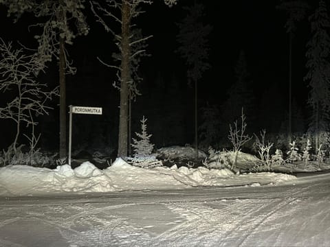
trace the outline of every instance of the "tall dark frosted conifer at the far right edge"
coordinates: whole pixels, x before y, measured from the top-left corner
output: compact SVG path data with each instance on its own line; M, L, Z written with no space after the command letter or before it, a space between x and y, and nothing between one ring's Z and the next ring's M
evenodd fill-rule
M330 112L330 27L325 1L319 2L314 14L309 17L311 22L311 40L307 43L308 58L306 67L309 69L305 80L309 82L308 104L313 110L309 131L314 133L316 150L320 146L320 132L327 131Z

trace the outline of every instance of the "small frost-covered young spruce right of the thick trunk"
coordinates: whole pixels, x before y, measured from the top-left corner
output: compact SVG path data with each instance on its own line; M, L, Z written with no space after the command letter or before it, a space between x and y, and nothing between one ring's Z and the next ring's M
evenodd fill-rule
M135 132L136 136L140 139L134 139L133 143L131 144L134 151L134 157L140 157L140 156L148 156L153 152L154 145L150 142L150 137L152 137L152 134L148 134L146 132L146 118L144 116L142 117L141 121L141 133Z

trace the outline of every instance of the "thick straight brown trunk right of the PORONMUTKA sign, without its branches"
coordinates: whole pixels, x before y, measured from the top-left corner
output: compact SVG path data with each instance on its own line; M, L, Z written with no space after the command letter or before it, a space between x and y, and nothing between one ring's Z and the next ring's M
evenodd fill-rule
M120 83L120 113L118 134L118 156L127 156L128 135L128 103L129 103L129 24L130 6L127 1L122 1L122 41L121 41L121 83Z

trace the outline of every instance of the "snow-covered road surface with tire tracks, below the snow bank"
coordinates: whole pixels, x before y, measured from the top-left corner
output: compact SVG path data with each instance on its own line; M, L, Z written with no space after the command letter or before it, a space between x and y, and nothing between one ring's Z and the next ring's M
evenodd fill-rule
M276 186L0 198L0 246L330 246L329 205L330 174Z

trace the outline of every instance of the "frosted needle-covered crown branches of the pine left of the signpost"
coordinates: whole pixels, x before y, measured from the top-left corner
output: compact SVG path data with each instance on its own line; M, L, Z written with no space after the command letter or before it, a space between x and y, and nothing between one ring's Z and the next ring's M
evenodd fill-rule
M76 36L88 34L89 27L83 14L84 2L85 0L2 0L0 4L8 6L8 16L14 16L14 21L17 21L23 12L32 12L34 16L43 20L42 23L30 25L29 31L40 31L34 37L39 43L39 61L45 63L52 60L53 56L59 59L60 38L72 45ZM65 51L65 69L67 73L74 74L76 69L72 67L72 62L68 58Z

